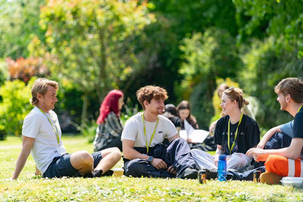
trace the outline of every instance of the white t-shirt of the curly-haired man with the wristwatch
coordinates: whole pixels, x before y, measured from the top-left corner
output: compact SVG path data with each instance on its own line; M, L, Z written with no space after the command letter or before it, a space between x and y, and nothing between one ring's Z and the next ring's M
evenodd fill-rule
M170 138L177 134L174 124L164 116L158 115L159 122L155 130L154 137L149 147L154 147L156 144L162 144L165 137ZM144 120L147 145L149 145L151 135L154 132L157 121L148 122ZM134 147L145 147L146 139L144 135L144 125L142 121L142 113L138 113L129 118L124 126L121 140L133 140L135 141Z

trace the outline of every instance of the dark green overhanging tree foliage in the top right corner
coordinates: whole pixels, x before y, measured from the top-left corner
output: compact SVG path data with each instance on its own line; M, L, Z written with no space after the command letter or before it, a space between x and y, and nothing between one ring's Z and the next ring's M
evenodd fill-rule
M236 7L236 22L239 26L238 42L250 41L251 37L274 36L276 52L290 52L298 47L298 58L303 56L303 1L302 0L233 0ZM243 20L246 19L246 20ZM246 40L245 40L246 39ZM286 47L280 47L281 39Z

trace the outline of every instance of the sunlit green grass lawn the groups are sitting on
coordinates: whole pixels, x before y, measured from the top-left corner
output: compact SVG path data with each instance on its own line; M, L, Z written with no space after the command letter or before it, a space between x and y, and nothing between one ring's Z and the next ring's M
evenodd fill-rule
M70 153L93 151L82 136L62 137ZM1 201L303 201L299 188L266 185L251 181L219 182L207 180L157 178L54 178L34 176L35 163L31 157L18 180L11 178L21 150L19 137L0 141L0 200ZM116 167L122 167L122 160Z

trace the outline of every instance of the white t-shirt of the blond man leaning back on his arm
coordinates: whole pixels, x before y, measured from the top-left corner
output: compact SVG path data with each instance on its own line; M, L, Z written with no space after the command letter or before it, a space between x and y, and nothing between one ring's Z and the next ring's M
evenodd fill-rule
M52 110L45 114L52 122L55 130L56 124L60 146L64 148L61 141L61 128L58 122L57 114ZM35 138L31 154L38 169L42 172L42 175L47 170L49 164L52 163L53 158L61 155L56 149L56 147L58 147L58 141L55 131L45 114L43 114L37 107L34 107L32 111L24 118L22 126L22 135ZM52 114L53 119L51 118L50 114Z

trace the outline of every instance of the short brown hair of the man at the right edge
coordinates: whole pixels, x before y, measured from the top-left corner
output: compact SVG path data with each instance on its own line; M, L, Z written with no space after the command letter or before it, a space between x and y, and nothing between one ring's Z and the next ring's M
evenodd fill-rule
M275 86L275 92L284 96L290 94L291 99L296 103L303 102L303 80L302 78L285 78Z

